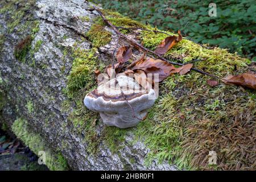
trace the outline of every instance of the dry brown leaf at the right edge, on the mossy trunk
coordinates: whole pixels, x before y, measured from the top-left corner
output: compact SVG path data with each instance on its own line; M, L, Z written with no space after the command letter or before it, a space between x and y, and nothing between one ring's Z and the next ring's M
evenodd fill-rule
M222 79L225 84L243 85L256 90L256 74L242 73L236 76L226 76Z

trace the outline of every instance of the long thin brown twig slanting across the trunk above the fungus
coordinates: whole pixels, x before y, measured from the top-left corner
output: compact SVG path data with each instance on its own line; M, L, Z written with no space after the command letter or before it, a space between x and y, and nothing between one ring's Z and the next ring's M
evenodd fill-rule
M127 38L126 35L122 34L121 32L119 32L119 30L112 24L109 22L108 19L105 18L105 16L102 14L102 12L100 10L98 10L96 7L94 7L94 9L98 12L98 14L100 14L101 18L104 20L104 22L106 22L114 31L116 34L118 34L119 36L121 36L123 39L126 39L128 42L130 42L135 48L137 49L140 49L140 50L143 50L144 52L148 52L148 53L151 53L151 55L154 55L156 57L158 57L159 59L162 59L163 61L166 61L168 63L171 63L171 64L174 64L174 65L179 65L179 66L183 66L184 64L181 64L181 63L176 63L176 62L173 62L173 61L170 61L170 60L167 60L166 58L164 58L163 56L159 55L158 53L155 53L154 51L151 51L150 49L147 49L145 47L143 47L141 44L135 42L134 40L132 39L129 39ZM196 71L196 72L199 72L203 75L208 75L210 77L213 77L213 78L220 78L216 75L212 75L210 73L207 73L207 72L204 72L204 71L201 71L200 69L197 69L197 68L191 68L191 70L193 71ZM220 78L221 79L221 78Z

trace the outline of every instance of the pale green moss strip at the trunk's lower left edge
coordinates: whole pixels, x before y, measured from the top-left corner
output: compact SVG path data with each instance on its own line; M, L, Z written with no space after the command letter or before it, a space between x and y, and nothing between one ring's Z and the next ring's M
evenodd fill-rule
M64 157L59 152L55 153L50 150L45 145L44 139L29 129L27 121L22 118L16 119L11 129L35 154L38 154L39 151L46 152L46 165L49 169L57 171L68 169Z

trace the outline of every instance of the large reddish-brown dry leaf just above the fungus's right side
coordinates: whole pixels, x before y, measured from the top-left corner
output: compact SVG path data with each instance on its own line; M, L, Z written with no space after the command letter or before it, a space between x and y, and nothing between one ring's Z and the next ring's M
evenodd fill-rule
M136 63L133 70L141 69L145 73L158 73L159 81L164 80L170 75L170 72L175 69L174 65L167 63L166 61L160 59L152 59L151 57L147 57Z

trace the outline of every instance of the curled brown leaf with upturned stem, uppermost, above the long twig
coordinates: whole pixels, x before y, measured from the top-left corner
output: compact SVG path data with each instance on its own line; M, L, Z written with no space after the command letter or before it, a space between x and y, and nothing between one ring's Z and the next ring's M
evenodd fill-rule
M180 34L180 31L178 31L179 36L168 36L162 42L156 47L155 53L158 53L159 55L164 55L167 51L169 51L174 45L180 40L182 40L182 35Z

